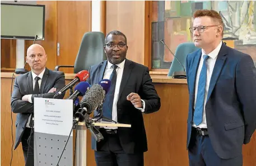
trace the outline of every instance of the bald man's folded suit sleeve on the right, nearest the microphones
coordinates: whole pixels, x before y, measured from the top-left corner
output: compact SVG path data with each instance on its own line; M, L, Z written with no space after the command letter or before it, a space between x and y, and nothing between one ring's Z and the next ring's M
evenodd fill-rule
M55 93L43 93L43 94L32 94L32 102L34 103L34 98L35 97L40 97L40 98L53 98L53 96L60 91L65 86L65 75L63 72L59 75L59 77L56 79L54 88L56 88ZM65 96L65 93L60 94L57 98L62 99Z

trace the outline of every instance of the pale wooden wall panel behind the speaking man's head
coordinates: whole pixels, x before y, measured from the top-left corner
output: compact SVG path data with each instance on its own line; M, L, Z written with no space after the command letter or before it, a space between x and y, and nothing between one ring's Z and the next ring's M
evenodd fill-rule
M106 34L113 30L127 37L127 58L144 64L145 2L106 1Z

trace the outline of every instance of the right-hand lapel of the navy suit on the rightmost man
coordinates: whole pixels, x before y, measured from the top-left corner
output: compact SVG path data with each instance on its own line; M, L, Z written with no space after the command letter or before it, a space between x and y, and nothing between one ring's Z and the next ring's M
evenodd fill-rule
M227 54L226 47L227 46L222 43L220 53L218 53L218 56L217 56L217 59L216 59L216 62L215 62L215 66L213 68L212 77L211 77L211 80L210 80L210 85L209 85L206 101L208 101L208 99L210 98L211 93L213 91L213 88L215 87L215 84L217 82L218 76L220 75L222 67L225 63L225 60L226 60L225 55Z

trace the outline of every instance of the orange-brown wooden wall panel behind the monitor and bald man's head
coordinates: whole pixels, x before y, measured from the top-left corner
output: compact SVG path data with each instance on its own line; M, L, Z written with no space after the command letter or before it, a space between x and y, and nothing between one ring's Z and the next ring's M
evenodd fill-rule
M57 1L37 1L36 3L45 5L45 40L35 41L35 43L44 47L48 56L46 67L53 70L57 64ZM32 40L25 40L25 56L31 44L33 44ZM30 70L28 64L26 69Z

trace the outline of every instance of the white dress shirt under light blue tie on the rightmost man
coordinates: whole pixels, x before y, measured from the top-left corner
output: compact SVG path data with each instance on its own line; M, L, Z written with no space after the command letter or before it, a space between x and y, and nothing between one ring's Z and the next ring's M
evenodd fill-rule
M212 72L213 72L213 68L215 66L215 62L218 56L218 53L220 52L221 49L221 45L222 45L222 41L220 42L220 44L218 44L217 48L214 49L211 53L208 54L208 56L210 56L207 60L207 77L206 77L206 91L204 93L204 103L203 103L203 120L202 123L199 124L198 126L196 124L192 124L193 127L199 127L199 128L203 128L206 129L207 128L207 122L206 122L206 99L207 99L207 95L208 95L208 89L209 89L209 85L210 85L210 80L212 77ZM201 55L201 60L199 63L199 67L197 70L197 77L196 77L196 84L195 84L195 99L194 99L194 108L196 107L196 102L197 102L197 89L198 89L198 80L199 80L199 76L203 67L203 55L207 55L206 53L204 53L203 49L202 49L202 55Z

